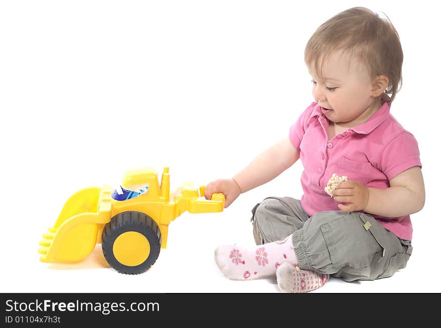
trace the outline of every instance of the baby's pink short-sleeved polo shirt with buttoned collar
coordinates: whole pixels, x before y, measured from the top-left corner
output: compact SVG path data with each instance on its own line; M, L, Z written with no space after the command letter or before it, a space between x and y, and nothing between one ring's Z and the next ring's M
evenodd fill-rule
M384 102L365 123L347 129L330 141L329 121L316 102L291 126L289 138L300 151L304 167L301 204L308 215L340 210L338 202L324 191L333 173L345 175L366 187L385 189L397 174L412 166L421 167L416 139L403 129L389 109L389 103ZM412 239L409 215L372 216L399 238Z

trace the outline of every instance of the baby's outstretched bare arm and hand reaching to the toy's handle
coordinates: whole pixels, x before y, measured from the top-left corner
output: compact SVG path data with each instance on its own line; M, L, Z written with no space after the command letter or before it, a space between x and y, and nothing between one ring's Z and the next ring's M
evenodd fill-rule
M271 181L293 165L299 157L299 151L289 138L284 138L259 154L232 179L218 179L208 183L205 187L205 198L211 199L213 193L222 192L225 195L224 206L228 207L241 193Z

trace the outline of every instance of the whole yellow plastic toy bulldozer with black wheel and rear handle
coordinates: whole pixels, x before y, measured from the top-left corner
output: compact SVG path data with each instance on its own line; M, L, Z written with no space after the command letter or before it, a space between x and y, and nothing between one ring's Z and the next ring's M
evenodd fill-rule
M151 168L128 170L120 189L90 187L73 194L54 226L40 240L40 260L76 262L87 257L97 243L104 257L120 273L146 271L167 245L168 225L183 212L224 210L224 194L203 197L204 186L186 185L170 194L170 175L164 167L159 185Z

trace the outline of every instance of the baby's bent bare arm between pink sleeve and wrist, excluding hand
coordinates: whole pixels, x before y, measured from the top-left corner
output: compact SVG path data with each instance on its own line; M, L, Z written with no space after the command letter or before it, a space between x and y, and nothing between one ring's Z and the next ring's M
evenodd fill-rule
M369 198L364 211L396 217L416 213L425 202L424 180L418 166L411 167L392 178L390 188L367 188Z

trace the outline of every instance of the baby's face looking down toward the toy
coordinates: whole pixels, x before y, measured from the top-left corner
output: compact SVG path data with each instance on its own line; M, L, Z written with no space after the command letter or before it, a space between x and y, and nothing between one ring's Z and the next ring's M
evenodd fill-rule
M318 64L320 67L320 59ZM377 106L378 99L371 96L372 81L356 56L342 51L332 53L324 62L323 79L318 77L314 64L308 65L308 71L313 97L330 121L345 127L356 126Z

